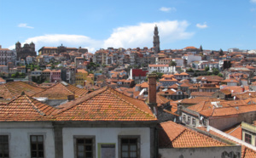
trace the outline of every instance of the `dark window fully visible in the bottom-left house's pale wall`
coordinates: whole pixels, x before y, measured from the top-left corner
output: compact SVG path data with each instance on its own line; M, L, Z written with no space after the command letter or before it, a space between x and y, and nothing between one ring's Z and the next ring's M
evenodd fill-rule
M32 135L30 136L31 157L44 158L44 136Z

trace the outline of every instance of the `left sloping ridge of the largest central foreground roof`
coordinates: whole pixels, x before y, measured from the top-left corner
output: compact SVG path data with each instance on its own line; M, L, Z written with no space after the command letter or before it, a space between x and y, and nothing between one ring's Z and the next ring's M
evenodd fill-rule
M68 107L66 107L66 108L64 107L63 110L56 111L53 114L53 116L61 114L62 112L66 111L66 110L69 110L69 109L73 108L74 106L76 106L76 105L78 105L78 104L80 104L80 103L82 103L82 102L84 102L84 101L86 101L88 99L91 99L92 97L95 97L96 95L106 91L107 88L108 87L102 87L102 89L99 89L99 90L96 90L96 91L94 91L92 93L89 93L87 96L86 95L85 96L81 96L81 97L79 97L79 99L73 100L71 102L67 102L67 106ZM76 102L78 102L78 103L76 103ZM74 104L72 104L72 103L74 103ZM61 105L63 106L65 104L61 104Z

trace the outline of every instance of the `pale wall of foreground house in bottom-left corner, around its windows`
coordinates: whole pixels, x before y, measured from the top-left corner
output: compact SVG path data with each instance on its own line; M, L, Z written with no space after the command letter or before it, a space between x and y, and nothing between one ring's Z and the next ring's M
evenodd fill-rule
M9 157L31 157L31 135L44 135L44 157L55 157L51 122L0 122L0 135L9 135Z

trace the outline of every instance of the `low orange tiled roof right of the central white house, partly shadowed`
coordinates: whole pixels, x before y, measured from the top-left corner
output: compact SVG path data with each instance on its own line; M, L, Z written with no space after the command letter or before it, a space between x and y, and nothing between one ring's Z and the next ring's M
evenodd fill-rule
M160 123L160 148L198 148L227 145L173 121Z

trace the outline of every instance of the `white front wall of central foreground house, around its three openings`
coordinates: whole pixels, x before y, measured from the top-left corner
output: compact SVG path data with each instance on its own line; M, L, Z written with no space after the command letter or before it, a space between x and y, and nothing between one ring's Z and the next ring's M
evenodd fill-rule
M96 157L98 157L98 144L115 144L115 157L119 157L119 136L140 136L141 158L150 157L150 128L132 128L132 127L108 127L108 128L89 128L89 127L65 127L62 131L63 136L63 157L74 157L74 136L95 136L96 138Z

